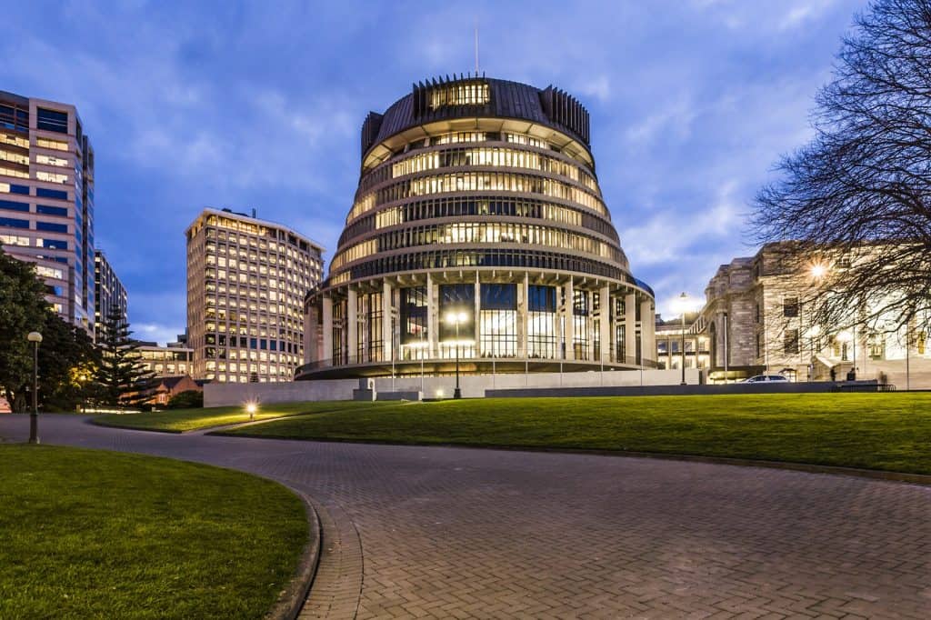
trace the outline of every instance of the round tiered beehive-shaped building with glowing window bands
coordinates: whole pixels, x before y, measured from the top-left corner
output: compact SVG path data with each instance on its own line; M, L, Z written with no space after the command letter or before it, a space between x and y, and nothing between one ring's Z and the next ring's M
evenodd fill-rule
M588 125L558 88L483 76L368 115L298 378L447 373L457 352L473 373L653 366L653 291L630 273Z

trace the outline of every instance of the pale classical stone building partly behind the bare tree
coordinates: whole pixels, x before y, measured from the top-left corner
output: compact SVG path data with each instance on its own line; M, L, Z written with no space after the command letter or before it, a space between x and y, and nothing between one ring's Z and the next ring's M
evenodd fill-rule
M820 269L844 269L839 256ZM874 329L816 325L807 303L816 294L813 265L799 262L784 243L764 246L756 255L719 267L705 290L706 303L689 335L708 342L712 382L762 372L779 372L795 381L886 379L911 387L931 386L929 317L895 329L895 317ZM851 312L857 309L852 308ZM882 323L883 321L881 321Z

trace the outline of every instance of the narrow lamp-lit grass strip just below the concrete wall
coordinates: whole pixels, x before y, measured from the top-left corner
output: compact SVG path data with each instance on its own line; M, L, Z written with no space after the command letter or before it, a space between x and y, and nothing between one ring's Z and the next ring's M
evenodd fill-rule
M315 413L317 411L332 411L334 408L351 408L353 405L366 405L372 403L354 402L291 402L260 405L255 412L255 420L267 420L283 415L296 415L299 413ZM376 403L381 404L381 403ZM235 425L249 422L249 413L243 406L211 407L209 409L177 409L169 411L152 411L148 413L122 413L101 415L94 418L93 423L101 426L117 426L120 428L139 428L142 430L155 430L167 433L183 433L184 431L209 428L211 426Z

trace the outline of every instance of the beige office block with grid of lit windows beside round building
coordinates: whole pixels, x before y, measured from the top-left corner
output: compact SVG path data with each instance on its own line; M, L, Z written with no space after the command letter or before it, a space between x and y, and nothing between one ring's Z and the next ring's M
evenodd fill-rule
M196 379L290 381L323 248L275 222L204 209L187 231L187 344Z

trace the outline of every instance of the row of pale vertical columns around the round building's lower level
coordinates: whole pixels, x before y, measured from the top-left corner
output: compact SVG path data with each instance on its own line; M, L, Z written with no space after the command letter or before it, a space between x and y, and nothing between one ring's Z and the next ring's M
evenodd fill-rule
M474 295L474 319L475 323L473 328L475 329L475 336L478 338L479 333L479 317L481 312L481 293L480 293L480 282L479 274L476 274L476 280L474 282L476 290ZM528 308L529 308L529 299L528 299L528 290L530 286L529 275L525 274L523 281L519 283L519 295L518 295L518 316L519 316L519 351L518 357L525 357L528 352ZM555 285L559 286L559 285ZM555 326L555 336L558 346L557 355L555 359L564 359L566 361L573 361L575 359L575 350L574 350L574 330L575 330L575 321L573 314L573 301L574 301L574 285L573 279L569 278L561 285L564 303L563 305L557 306L556 309L556 326ZM434 278L430 275L426 275L426 326L427 326L427 341L426 341L426 351L425 357L433 358L439 357L439 327L442 317L439 317L439 286L434 283ZM395 357L399 357L400 352L393 350L395 345L394 338L394 325L399 325L399 312L396 310L396 304L394 302L394 296L397 289L391 285L387 280L382 283L382 351L384 360L390 360ZM601 287L599 290L591 291L593 295L599 295L599 310L592 312L589 308L589 314L587 320L594 321L598 319L598 340L600 344L600 355L596 359L594 356L594 343L595 343L595 330L591 328L588 331L588 340L587 340L587 350L589 351L589 356L586 361L593 362L603 362L611 363L613 361L613 352L614 346L612 346L612 341L614 340L614 327L617 324L617 318L611 320L611 310L612 310L612 295L611 288L609 286ZM345 344L346 344L346 359L348 363L354 364L359 363L363 360L358 359L358 343L359 343L359 317L358 317L358 290L354 287L348 287L346 290L346 329L345 329ZM398 300L399 301L399 300ZM653 300L649 298L644 298L641 296L641 300L638 301L638 294L636 292L628 292L624 298L624 317L623 324L626 326L624 330L624 352L625 359L614 360L617 363L627 363L628 360L633 362L635 361L636 352L637 352L637 313L638 309L641 314L641 359L653 361L655 350L655 335L654 335L654 305ZM639 303L639 307L638 307ZM309 320L307 325L306 333L309 335L308 345L305 347L305 351L308 351L307 361L325 361L332 357L333 351L333 301L331 295L325 294L321 302L321 312L320 317L317 321L316 312L308 313ZM398 317L398 321L393 321L393 318ZM562 320L560 320L560 318ZM316 326L313 324L316 322ZM322 331L320 334L321 337L317 339L316 334L319 331ZM365 334L362 336L366 337ZM317 346L319 345L321 351L317 352ZM560 357L559 344L564 343L564 356ZM478 348L478 343L477 343Z

